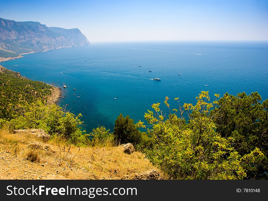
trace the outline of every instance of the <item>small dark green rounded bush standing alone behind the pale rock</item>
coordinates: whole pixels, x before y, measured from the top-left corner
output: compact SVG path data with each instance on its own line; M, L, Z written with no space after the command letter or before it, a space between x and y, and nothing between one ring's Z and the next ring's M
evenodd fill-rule
M132 143L134 146L141 142L141 132L137 129L134 120L127 115L125 118L122 113L115 120L114 135L115 141L120 144Z

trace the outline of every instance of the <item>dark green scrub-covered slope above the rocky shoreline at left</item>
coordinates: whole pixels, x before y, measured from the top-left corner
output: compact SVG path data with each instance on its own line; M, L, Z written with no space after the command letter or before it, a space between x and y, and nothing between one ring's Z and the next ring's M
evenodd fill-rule
M0 66L0 119L10 120L18 105L45 102L51 95L51 86L40 81L31 81Z

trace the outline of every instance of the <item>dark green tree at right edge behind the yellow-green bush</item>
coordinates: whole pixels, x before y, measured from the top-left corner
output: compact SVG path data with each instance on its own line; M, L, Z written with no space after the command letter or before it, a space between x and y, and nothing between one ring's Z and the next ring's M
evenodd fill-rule
M237 96L226 93L211 111L216 131L222 137L232 138L232 146L240 155L249 154L256 147L265 160L255 161L246 167L248 179L268 179L268 100L260 103L258 92Z

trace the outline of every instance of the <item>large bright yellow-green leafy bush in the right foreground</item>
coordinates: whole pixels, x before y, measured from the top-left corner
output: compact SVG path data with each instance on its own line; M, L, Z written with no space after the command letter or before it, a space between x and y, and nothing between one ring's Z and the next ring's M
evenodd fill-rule
M239 155L232 146L232 138L224 138L216 131L213 121L219 95L210 103L208 92L199 94L196 105L179 104L171 110L166 97L168 114L160 110L160 103L152 105L154 111L145 113L150 127L139 122L137 126L147 128L154 140L154 148L146 149L150 161L166 172L170 179L243 179L246 166L263 161L260 149ZM179 112L179 114L178 114ZM188 114L189 122L183 118Z

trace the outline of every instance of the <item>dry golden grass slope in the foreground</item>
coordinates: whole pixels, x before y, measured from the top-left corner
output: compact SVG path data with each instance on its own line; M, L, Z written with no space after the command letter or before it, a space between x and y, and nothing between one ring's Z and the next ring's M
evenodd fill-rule
M35 162L27 160L30 153L37 154L37 160L32 160ZM125 154L122 146L79 148L55 138L44 143L32 134L13 134L8 128L2 128L0 176L5 175L1 169L7 172L10 169L6 179L10 179L10 175L13 175L11 179L51 179L51 175L54 179L120 179L157 168L140 152Z

